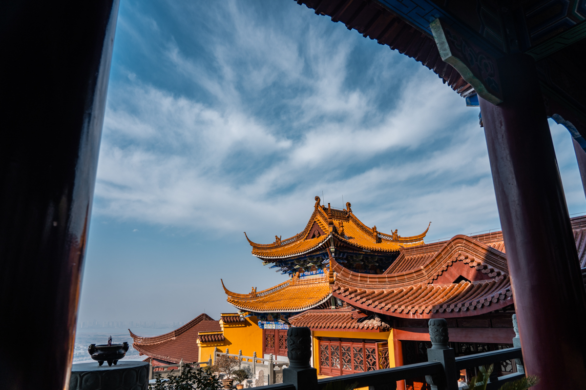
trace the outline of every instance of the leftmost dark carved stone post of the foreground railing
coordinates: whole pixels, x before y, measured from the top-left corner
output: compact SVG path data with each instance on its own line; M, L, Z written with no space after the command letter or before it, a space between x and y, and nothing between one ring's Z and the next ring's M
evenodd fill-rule
M297 390L316 390L318 370L311 367L311 330L308 327L289 327L287 331L289 367L283 369L283 383Z

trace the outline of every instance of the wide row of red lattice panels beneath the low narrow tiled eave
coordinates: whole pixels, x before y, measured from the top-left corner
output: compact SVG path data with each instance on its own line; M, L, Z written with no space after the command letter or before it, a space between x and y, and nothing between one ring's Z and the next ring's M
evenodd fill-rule
M329 337L320 339L320 374L335 377L336 375L377 370L379 361L376 344L374 340L334 339ZM386 365L389 365L388 347Z

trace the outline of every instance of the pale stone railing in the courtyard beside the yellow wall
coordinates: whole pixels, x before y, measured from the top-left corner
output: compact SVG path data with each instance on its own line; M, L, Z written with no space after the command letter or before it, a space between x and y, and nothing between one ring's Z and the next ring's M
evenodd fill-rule
M278 384L283 381L283 370L285 366L289 365L288 361L274 360L272 354L268 358L257 357L256 352L253 352L253 356L244 356L242 350L238 351L238 354L229 353L228 348L226 352L219 352L218 348L214 348L214 362L216 356L229 356L238 360L238 368L248 366L253 374L251 379L251 385L263 386L265 384L272 385Z

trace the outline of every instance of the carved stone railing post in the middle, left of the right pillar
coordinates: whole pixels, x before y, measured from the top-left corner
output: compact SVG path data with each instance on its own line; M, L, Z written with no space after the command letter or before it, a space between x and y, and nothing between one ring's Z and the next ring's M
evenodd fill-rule
M432 390L457 390L456 357L449 347L448 322L437 318L429 321L431 348L427 350L427 361L438 361L444 366L443 375L425 375Z

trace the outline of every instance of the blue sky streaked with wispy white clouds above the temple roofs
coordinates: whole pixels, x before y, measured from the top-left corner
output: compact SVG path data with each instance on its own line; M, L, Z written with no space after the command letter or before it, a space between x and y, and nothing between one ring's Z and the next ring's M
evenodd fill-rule
M478 108L432 71L292 0L123 0L79 323L188 322L285 276L244 237L304 229L314 197L426 242L499 229ZM568 210L586 212L550 120Z

